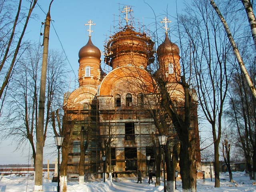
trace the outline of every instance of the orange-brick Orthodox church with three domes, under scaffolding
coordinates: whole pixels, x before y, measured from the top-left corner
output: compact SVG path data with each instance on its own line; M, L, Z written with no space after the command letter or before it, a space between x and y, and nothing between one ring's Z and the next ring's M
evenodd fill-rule
M64 99L68 121L74 121L68 174L78 173L81 140L87 143L85 174L102 174L104 156L107 172L125 175L140 169L146 174L148 166L154 171L151 138L158 132L151 112L158 108L159 101L156 82L149 70L154 62L160 66L154 75L164 74L172 100L177 105L184 101L182 87L177 83L180 80L180 52L168 37L168 19L162 21L166 35L156 52L151 38L128 24L129 7L125 11L126 25L111 36L105 46L104 62L112 67L107 74L101 68L101 52L92 43L91 26L94 24L91 20L86 24L90 34L87 44L78 53L79 88L66 94ZM193 115L191 127L199 149L196 109ZM171 122L168 131L173 138L175 131ZM197 160L200 162L200 152Z

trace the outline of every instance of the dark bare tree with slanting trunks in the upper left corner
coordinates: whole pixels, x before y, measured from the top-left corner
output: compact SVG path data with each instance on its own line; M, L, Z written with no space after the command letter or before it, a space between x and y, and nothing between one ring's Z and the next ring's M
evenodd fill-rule
M4 78L1 79L2 86L0 88L0 99L4 94L4 90L11 78L12 71L16 64L16 60L19 57L18 53L20 47L22 46L22 39L26 32L26 28L28 26L28 22L31 17L32 11L36 6L36 2L37 0L30 1L28 13L26 13L24 16L22 13L22 0L19 0L14 20L12 20L10 13L8 12L8 8L11 8L13 5L6 0L1 0L0 2L0 21L2 26L1 32L5 32L4 34L2 34L2 38L0 40L0 42L2 42L0 73L2 76L4 76ZM22 30L19 33L20 28ZM6 31L4 31L4 29L6 29ZM18 37L16 36L16 34L19 34Z

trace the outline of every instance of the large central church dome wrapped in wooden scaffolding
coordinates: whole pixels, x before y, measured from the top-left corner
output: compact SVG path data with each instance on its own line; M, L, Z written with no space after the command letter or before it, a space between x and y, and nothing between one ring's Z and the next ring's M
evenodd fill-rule
M146 33L134 31L132 26L125 26L120 32L110 36L105 46L106 64L116 68L126 66L134 58L140 59L140 66L146 68L154 62L154 42Z

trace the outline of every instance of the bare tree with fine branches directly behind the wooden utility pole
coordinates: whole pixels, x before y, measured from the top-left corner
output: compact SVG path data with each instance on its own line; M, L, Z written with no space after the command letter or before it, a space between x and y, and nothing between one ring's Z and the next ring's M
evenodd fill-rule
M8 128L4 136L14 136L20 148L26 141L32 147L34 163L36 159L35 131L38 125L38 89L41 50L30 46L16 64L10 82L10 93L4 105L5 113L2 119ZM63 89L66 85L64 76L66 74L65 59L59 52L50 51L47 70L46 88L46 118L44 119L43 141L46 140L48 123L50 121L50 110L56 110L62 106ZM8 108L7 108L8 106ZM44 145L44 143L43 143Z

